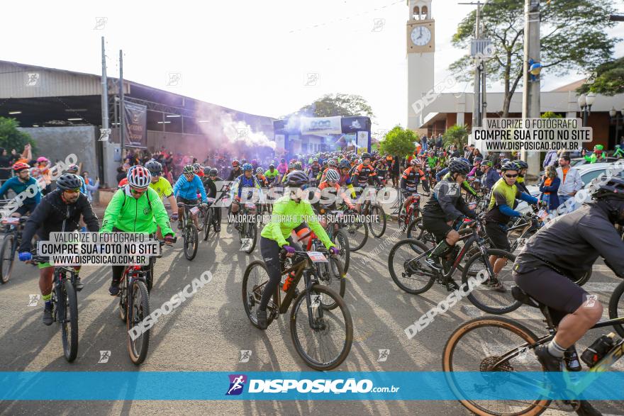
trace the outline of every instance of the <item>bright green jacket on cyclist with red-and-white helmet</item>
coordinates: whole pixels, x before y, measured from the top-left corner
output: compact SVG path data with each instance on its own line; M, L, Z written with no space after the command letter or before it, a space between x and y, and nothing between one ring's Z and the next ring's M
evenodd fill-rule
M169 215L158 193L151 188L138 199L126 185L113 195L104 212L100 232L112 232L113 227L124 232L156 232L160 225L162 235L175 234L169 223Z

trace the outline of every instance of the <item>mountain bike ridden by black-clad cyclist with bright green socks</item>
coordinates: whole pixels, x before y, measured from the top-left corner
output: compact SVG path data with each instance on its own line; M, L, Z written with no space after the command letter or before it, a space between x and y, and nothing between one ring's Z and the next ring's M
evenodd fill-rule
M476 286L469 293L464 289L470 302L484 312L494 314L509 313L520 308L520 302L513 300L509 291L495 291L498 282L503 283L504 286L514 284L511 278L511 266L516 256L510 252L486 247L484 239L479 235L478 220L467 220L462 226L467 227L458 230L459 242L463 242L463 247L460 249L459 245L455 245L455 249L450 254L452 260L442 259L443 269L440 271L430 265L432 260L429 254L433 252L434 247L428 247L423 242L413 239L401 240L394 244L388 257L388 266L390 276L396 286L414 295L425 293L434 283L445 286L447 291L457 291L459 285L452 278L457 269L462 269L462 285L467 285L469 278L475 278L479 272L484 272L486 280L482 282L483 284ZM463 266L460 266L473 244L477 244L478 251L472 254ZM501 269L498 276L494 276L489 262L490 256L506 259L506 266Z

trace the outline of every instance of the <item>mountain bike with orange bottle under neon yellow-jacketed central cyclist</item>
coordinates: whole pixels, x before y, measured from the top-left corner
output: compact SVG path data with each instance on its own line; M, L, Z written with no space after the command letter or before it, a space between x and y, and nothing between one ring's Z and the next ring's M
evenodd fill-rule
M288 259L288 260L286 260ZM297 354L312 369L335 369L345 361L353 342L353 322L345 301L333 290L320 283L319 262L328 262L327 252L296 252L289 258L280 253L282 275L291 279L282 299L278 285L267 306L269 324L286 313L294 300L289 319L291 338ZM338 263L339 264L339 263ZM297 284L305 288L299 292ZM252 325L258 327L257 307L269 281L267 266L261 260L251 262L243 276L243 306Z

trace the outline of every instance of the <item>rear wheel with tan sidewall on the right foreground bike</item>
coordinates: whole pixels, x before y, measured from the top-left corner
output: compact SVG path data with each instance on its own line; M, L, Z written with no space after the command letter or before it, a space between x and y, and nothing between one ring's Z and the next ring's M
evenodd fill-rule
M488 379L488 372L523 372L534 371L539 374L542 371L537 356L533 354L533 349L526 345L535 344L537 336L524 325L514 322L506 317L491 316L480 317L469 322L465 322L455 330L445 344L442 351L442 370L450 388L455 393L459 403L462 403L471 412L477 415L540 415L544 412L550 400L547 398L537 398L535 400L503 400L500 398L503 389L513 391L518 388L516 383L509 381L501 386L501 377L496 377L494 381ZM501 357L509 352L514 352L508 360L495 366ZM454 371L483 373L483 383L466 383L455 378ZM544 376L547 382L546 374ZM474 394L474 391L481 392L481 395L492 391L492 397L487 400L470 400L464 388ZM498 392L498 394L496 394Z

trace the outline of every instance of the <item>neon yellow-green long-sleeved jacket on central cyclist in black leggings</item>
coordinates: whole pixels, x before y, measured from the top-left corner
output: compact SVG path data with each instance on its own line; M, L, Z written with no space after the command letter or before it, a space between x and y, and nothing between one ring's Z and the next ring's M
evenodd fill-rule
M269 240L277 241L279 247L282 247L288 244L286 238L290 237L292 230L301 223L307 223L308 227L316 234L316 237L325 244L325 247L330 248L334 246L327 232L318 223L310 202L301 201L297 203L289 196L282 196L282 198L275 201L271 221L264 226L260 235Z

